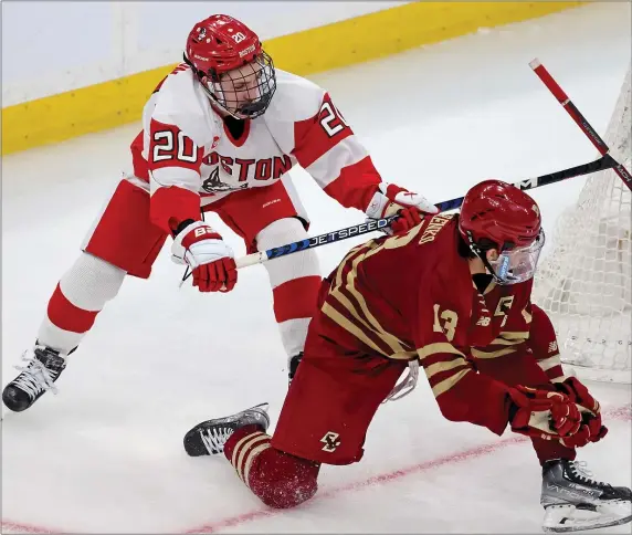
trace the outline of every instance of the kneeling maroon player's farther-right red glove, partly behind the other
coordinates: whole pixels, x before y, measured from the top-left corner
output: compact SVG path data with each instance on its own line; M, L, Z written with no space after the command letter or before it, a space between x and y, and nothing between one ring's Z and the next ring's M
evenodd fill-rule
M582 429L575 436L563 439L562 444L569 448L580 448L589 442L599 442L608 433L608 428L601 423L601 406L577 377L568 377L561 382L554 382L558 392L562 392L578 405L581 412Z

